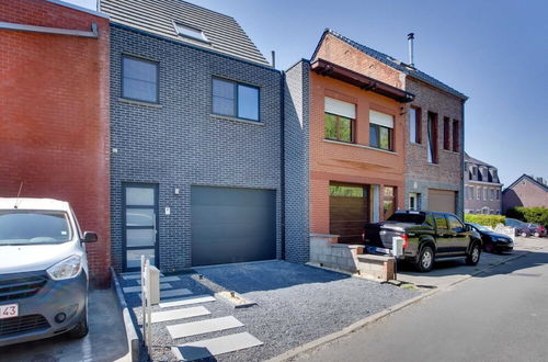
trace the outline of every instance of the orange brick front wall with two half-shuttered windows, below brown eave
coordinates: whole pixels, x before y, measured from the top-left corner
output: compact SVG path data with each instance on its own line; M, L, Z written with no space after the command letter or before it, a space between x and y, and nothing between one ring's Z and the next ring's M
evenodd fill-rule
M324 98L356 104L356 145L324 140ZM310 75L310 231L329 233L329 182L397 188L397 208L403 208L403 125L401 104L329 77ZM368 148L369 109L395 116L395 154ZM383 192L378 213L383 219Z

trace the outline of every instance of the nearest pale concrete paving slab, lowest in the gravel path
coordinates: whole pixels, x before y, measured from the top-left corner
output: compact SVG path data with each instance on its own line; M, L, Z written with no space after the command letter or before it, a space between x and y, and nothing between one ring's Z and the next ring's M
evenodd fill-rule
M194 361L261 344L259 339L243 332L172 347L171 351L178 361Z

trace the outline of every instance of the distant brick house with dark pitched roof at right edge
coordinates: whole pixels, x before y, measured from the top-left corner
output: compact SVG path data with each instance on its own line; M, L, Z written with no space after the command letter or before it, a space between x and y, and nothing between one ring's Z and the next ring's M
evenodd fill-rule
M502 192L502 208L548 207L548 183L543 178L523 174Z

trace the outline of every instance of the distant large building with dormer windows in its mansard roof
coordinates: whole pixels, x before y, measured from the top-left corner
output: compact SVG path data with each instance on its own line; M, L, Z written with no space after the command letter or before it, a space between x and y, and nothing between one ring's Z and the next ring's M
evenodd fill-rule
M465 154L465 213L500 215L501 192L498 169Z

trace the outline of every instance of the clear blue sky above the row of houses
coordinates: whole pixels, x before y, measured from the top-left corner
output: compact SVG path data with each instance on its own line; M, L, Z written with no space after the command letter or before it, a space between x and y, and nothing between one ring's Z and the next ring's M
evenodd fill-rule
M94 9L95 0L69 0ZM190 0L238 20L285 69L309 58L322 31L407 61L415 33L419 69L467 94L466 150L499 168L509 185L548 178L548 2Z

